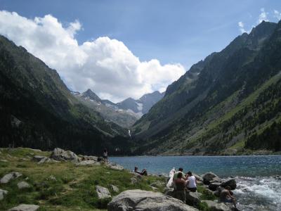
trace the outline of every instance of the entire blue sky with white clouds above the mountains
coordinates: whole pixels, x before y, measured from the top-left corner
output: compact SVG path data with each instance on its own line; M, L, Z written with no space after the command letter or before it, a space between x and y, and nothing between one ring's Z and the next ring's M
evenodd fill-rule
M0 34L57 70L70 90L117 102L165 91L280 12L280 0L0 0Z

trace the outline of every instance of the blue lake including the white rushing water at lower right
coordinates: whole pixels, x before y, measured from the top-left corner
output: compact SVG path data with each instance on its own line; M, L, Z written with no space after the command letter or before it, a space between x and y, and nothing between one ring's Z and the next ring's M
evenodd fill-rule
M235 177L237 207L240 210L281 210L281 155L268 156L136 156L112 157L128 170L138 166L148 173L169 174L172 167L184 172L214 172L219 177Z

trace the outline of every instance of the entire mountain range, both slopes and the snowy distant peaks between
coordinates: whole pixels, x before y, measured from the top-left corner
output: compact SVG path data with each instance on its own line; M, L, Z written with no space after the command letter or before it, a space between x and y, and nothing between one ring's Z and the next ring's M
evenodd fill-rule
M167 87L113 103L70 91L0 36L0 146L111 155L281 151L281 22L262 22Z

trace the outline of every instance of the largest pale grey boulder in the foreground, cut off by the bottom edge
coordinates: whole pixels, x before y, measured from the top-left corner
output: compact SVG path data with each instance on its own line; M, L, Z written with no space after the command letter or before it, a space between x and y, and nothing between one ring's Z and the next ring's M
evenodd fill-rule
M108 204L108 211L195 211L176 198L151 191L128 190L120 193Z

